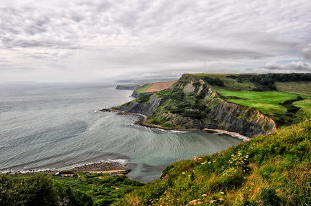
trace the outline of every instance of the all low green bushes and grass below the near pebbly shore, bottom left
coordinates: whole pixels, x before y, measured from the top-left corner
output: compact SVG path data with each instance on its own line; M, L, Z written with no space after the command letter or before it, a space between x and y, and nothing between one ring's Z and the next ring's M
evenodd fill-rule
M144 185L124 175L0 176L0 205L110 205Z

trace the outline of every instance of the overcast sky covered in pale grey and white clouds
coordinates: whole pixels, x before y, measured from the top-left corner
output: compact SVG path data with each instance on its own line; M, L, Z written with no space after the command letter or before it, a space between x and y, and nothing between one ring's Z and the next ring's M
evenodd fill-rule
M0 0L0 82L311 72L310 0Z

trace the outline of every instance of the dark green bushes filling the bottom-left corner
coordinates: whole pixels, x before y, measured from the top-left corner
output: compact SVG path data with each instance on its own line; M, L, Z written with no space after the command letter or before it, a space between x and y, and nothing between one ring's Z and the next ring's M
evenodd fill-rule
M91 196L45 175L0 176L0 205L93 205Z

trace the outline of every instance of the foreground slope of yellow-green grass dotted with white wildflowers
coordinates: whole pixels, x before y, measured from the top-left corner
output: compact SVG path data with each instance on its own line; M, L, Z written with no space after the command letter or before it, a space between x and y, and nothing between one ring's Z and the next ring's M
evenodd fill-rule
M114 205L310 205L311 121L176 162L164 175Z

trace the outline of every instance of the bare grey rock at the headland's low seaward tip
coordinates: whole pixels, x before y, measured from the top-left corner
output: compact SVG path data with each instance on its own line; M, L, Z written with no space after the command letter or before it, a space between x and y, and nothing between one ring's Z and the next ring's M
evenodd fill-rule
M121 105L118 110L125 111L127 113L140 113L143 115L150 115L160 105L161 98L158 98L156 96L151 96L148 103L139 103L135 100L132 102L128 102L127 104Z

